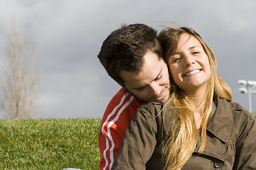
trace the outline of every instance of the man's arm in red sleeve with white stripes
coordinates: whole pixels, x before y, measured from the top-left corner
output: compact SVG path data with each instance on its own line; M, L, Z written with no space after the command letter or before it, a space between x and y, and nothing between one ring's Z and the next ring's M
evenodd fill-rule
M111 169L124 132L139 105L140 102L124 89L120 89L108 104L99 134L100 169Z

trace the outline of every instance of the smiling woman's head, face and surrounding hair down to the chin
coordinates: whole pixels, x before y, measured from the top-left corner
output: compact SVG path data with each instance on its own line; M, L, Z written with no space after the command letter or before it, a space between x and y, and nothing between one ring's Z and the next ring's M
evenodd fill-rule
M196 88L202 83L206 85L208 81L214 80L216 74L215 56L195 30L191 28L165 28L158 38L163 47L166 62L169 64L171 77L180 89L183 91L193 90L191 89L193 86ZM193 78L195 75L196 77ZM188 83L193 86L189 86Z

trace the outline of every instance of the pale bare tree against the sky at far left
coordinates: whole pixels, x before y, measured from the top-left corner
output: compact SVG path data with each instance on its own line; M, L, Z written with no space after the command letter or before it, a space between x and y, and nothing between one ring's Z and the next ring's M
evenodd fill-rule
M6 63L1 72L1 109L6 118L31 118L38 111L39 75L28 37L13 24L5 37Z

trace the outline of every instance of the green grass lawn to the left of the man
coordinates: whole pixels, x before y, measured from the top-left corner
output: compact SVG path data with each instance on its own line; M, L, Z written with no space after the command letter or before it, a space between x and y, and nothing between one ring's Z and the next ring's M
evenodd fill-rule
M0 169L99 169L100 119L0 120Z

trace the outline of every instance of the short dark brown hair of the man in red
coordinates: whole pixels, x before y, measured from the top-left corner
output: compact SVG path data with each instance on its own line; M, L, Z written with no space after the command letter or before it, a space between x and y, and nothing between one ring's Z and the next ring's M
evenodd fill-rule
M115 81L124 84L120 72L139 73L144 65L146 52L154 52L159 58L162 50L154 28L136 23L114 30L102 43L97 57Z

